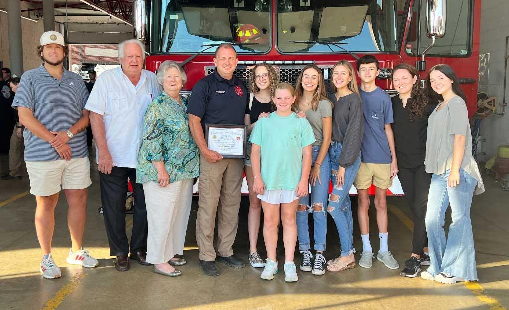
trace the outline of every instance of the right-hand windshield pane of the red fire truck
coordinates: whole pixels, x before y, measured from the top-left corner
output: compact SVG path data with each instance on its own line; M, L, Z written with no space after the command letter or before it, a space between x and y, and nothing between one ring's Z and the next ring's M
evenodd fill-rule
M278 0L276 46L282 53L397 51L396 0ZM307 41L309 44L302 44Z

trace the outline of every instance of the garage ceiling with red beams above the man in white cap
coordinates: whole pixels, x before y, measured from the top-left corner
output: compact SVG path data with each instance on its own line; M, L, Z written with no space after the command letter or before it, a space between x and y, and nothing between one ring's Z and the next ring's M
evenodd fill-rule
M30 3L32 18L43 18L42 0ZM132 0L54 0L55 22L67 27L70 44L117 44L132 39Z

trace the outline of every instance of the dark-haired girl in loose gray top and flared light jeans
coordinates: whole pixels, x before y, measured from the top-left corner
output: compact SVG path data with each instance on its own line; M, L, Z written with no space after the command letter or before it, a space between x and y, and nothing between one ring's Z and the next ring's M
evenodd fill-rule
M445 284L477 281L470 206L472 195L484 192L484 185L471 154L465 95L447 65L431 68L427 83L430 97L440 103L428 120L425 165L433 175L425 222L431 265L421 277ZM445 239L449 204L453 223Z

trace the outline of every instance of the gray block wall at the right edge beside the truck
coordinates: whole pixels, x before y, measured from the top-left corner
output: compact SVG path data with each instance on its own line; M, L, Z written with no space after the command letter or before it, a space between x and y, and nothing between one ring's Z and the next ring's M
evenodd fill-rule
M498 112L503 102L505 37L509 36L509 2L507 0L483 0L480 26L480 53L489 53L490 65L488 78L479 84L479 90L489 96L497 96ZM509 52L509 51L507 51ZM509 66L508 66L509 67ZM507 79L505 102L509 102L509 79ZM508 111L509 112L509 111ZM496 155L497 146L509 143L509 116L489 116L481 125L480 134L486 139L482 150L488 160Z

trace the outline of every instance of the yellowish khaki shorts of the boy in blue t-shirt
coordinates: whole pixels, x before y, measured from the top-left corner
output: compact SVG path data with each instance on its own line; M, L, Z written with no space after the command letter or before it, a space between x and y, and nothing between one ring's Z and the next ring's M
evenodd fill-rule
M390 164L360 163L353 184L358 190L369 189L371 184L380 189L388 189L392 185Z

